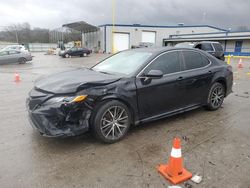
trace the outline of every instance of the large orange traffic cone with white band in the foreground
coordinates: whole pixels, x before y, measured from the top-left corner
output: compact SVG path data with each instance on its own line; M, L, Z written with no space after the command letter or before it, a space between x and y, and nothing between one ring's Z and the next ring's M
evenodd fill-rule
M173 184L178 184L192 177L192 174L183 168L181 156L181 140L175 138L168 164L161 164L158 172Z

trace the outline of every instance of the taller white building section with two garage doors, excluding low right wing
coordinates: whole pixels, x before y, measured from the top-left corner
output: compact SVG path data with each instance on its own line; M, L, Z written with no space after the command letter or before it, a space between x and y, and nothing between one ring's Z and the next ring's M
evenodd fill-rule
M225 32L224 29L209 25L177 25L177 26L157 26L157 25L124 25L104 24L98 26L100 29L95 32L84 34L84 44L94 51L112 52L130 49L138 46L142 42L153 43L154 46L163 46L163 39L176 34L195 34L210 32ZM112 33L114 35L112 36Z

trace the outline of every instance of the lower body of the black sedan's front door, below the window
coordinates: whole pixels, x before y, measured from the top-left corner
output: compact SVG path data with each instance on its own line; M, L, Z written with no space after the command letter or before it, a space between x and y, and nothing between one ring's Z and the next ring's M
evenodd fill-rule
M136 79L140 119L183 107L185 88L179 84L180 76L174 74L160 79Z

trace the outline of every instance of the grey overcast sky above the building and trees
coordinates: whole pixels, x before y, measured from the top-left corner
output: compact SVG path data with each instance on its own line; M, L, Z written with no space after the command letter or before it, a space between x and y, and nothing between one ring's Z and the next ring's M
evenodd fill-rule
M250 29L250 0L116 0L115 7L116 23ZM0 0L0 29L22 22L54 29L81 20L112 23L112 0Z

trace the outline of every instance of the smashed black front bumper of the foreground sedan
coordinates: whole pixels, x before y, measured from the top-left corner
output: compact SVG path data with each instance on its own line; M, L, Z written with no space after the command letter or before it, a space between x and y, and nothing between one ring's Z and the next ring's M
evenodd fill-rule
M58 102L32 106L32 100L27 99L29 120L43 136L76 136L89 130L91 107L87 102Z

